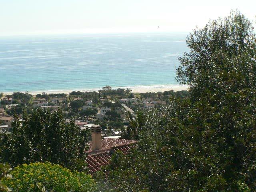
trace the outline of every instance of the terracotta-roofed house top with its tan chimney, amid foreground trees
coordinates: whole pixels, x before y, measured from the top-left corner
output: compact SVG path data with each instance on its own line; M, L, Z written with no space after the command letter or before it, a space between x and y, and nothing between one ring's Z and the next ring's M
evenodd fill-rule
M103 166L110 163L111 156L120 151L128 154L129 150L134 147L137 141L126 140L120 138L102 139L101 127L99 125L92 126L92 141L88 142L88 151L86 151L86 163L90 174L94 174Z

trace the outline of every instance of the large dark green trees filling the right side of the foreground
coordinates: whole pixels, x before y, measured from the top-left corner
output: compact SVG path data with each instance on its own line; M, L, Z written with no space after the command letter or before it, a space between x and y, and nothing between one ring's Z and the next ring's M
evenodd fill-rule
M189 98L143 114L138 145L116 154L123 192L256 191L256 39L238 12L188 36L177 76Z

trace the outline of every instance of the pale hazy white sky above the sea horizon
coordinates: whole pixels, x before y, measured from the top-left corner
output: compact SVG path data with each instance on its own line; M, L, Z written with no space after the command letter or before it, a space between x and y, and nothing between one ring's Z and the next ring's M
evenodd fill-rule
M190 32L231 9L255 25L256 0L0 0L0 35Z

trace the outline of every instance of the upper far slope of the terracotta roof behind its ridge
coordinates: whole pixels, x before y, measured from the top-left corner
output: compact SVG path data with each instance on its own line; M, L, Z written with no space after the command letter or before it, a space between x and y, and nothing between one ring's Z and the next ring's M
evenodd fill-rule
M112 146L120 145L120 144L130 144L134 143L134 140L127 140L127 139L114 139L114 138L106 138L101 140L102 150L110 149ZM92 150L92 142L88 142L88 151Z

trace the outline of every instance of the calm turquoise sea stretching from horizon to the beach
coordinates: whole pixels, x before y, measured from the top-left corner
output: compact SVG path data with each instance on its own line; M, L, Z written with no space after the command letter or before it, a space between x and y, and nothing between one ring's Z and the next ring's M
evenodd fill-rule
M0 38L0 92L175 85L186 34Z

